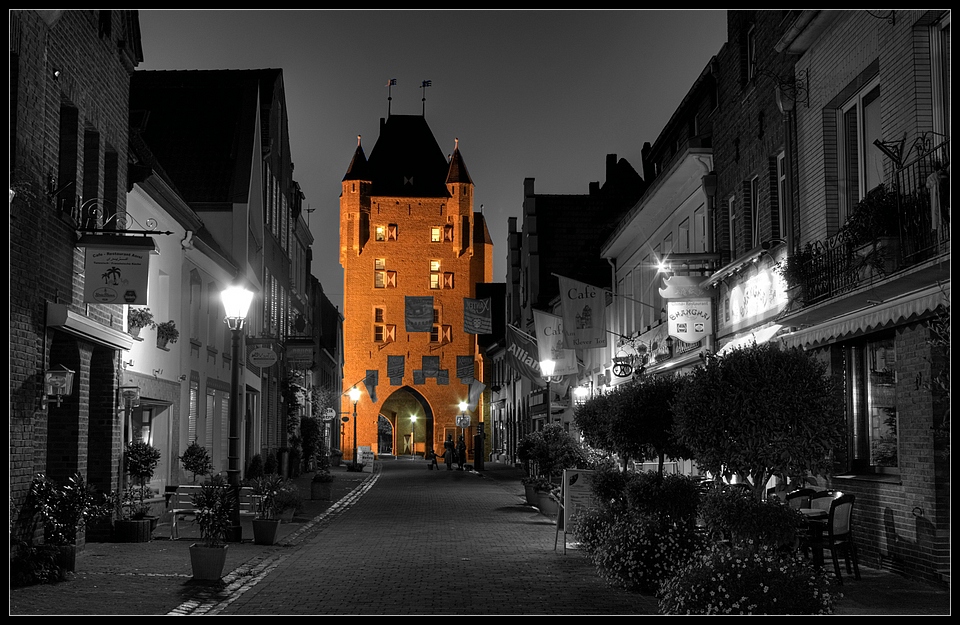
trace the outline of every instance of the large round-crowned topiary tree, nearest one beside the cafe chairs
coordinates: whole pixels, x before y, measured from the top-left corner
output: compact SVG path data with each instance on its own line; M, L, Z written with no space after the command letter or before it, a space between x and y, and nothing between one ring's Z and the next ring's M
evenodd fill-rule
M676 435L714 475L738 474L757 499L767 481L824 475L843 442L843 399L826 365L775 343L708 358L673 401Z

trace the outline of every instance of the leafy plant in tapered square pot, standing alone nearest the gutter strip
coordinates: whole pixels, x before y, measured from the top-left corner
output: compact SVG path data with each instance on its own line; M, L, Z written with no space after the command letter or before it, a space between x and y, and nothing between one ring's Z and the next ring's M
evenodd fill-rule
M225 478L215 475L200 485L191 498L197 511L202 543L190 545L190 564L196 580L217 581L227 560L227 534L235 505L233 490Z

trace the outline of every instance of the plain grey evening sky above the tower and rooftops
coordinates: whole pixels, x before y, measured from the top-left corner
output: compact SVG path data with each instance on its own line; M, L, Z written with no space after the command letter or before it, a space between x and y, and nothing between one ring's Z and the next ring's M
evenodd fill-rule
M536 193L586 194L640 151L726 42L725 10L140 10L138 70L283 70L311 272L343 310L340 182L380 118L423 114L460 153L506 281L507 223ZM388 87L391 79L396 84ZM424 81L430 86L422 88ZM390 100L388 102L388 96Z

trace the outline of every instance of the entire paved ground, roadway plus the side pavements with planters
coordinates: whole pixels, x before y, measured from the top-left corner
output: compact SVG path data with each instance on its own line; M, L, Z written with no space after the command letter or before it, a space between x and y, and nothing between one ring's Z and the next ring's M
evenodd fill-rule
M556 527L526 505L516 469L376 466L335 469L331 502L310 500L310 475L299 478L302 513L276 545L231 544L222 584L191 578L193 524L169 540L161 520L148 543L88 544L69 581L11 590L10 614L656 614L653 597L607 586L572 548L554 551ZM860 568L839 615L951 613L945 587Z

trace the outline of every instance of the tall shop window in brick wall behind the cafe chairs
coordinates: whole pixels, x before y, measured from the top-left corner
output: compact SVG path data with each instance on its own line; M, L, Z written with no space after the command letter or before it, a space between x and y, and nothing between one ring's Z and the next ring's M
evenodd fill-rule
M897 352L893 335L845 347L853 469L898 473Z

